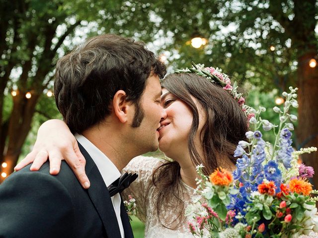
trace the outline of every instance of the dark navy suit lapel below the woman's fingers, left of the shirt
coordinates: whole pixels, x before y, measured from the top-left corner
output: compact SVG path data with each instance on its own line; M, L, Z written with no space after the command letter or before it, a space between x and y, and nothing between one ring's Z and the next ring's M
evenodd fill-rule
M91 184L87 189L87 192L96 208L97 213L99 214L107 237L121 238L114 207L99 170L87 151L80 144L79 150L86 159L85 171Z

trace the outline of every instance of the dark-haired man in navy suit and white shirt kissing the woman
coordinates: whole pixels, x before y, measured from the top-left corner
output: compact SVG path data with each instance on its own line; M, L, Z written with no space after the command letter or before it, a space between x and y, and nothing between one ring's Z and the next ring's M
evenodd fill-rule
M165 66L142 43L116 35L88 39L57 63L55 99L86 159L89 189L62 162L27 166L0 185L0 237L131 238L118 181L128 162L158 148L159 78ZM113 196L111 196L113 195Z

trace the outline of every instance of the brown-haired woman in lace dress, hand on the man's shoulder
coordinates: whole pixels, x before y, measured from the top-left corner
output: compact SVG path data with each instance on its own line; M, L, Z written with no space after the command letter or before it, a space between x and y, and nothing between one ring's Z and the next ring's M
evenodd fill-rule
M221 80L227 77L215 75ZM130 194L136 199L145 237L192 237L184 209L196 187L195 167L203 164L205 175L220 166L234 170L234 151L245 139L247 118L241 102L226 90L231 87L229 82L223 88L195 73L174 73L166 76L161 86L161 105L167 117L160 121L159 149L171 160L133 159L124 172L137 173L138 179L122 196L125 200ZM63 158L87 188L83 158L74 152L79 151L77 141L61 120L49 120L40 127L33 151L15 169L34 161L31 170L38 170L57 151L61 157L50 158L51 174L59 172Z

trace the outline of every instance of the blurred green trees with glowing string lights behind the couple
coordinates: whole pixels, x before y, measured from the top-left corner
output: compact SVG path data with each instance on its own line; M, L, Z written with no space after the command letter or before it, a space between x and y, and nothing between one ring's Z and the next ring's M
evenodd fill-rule
M104 33L144 41L169 72L191 61L223 68L272 122L281 93L297 86L293 146L318 147L317 23L317 0L0 0L0 182L32 149L39 125L61 118L56 61ZM300 159L318 171L317 153ZM317 188L318 176L312 182ZM143 237L143 224L133 224Z

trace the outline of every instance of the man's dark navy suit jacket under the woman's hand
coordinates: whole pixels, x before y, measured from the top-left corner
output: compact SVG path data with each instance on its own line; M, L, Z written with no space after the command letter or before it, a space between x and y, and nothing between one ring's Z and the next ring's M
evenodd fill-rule
M79 144L91 182L83 189L63 161L57 176L49 163L38 172L30 166L0 184L0 238L121 238L107 187L91 157ZM121 202L125 238L133 238Z

